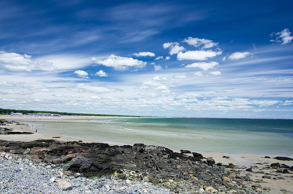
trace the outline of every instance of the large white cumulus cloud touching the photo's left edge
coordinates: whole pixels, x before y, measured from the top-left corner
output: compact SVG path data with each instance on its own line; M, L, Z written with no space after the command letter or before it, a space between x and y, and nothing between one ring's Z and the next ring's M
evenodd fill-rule
M12 71L54 71L57 70L53 63L31 59L31 55L7 53L0 51L0 66Z

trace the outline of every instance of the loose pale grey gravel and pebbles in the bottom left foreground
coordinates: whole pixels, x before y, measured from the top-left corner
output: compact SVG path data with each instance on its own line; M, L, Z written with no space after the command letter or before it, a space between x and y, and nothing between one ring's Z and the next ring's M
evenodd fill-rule
M63 169L54 168L42 162L19 158L18 155L1 153L0 155L0 193L127 193L127 194L174 194L165 187L149 182L122 180L115 176L85 177L66 176ZM69 187L66 186L68 184ZM59 185L59 186L58 186Z

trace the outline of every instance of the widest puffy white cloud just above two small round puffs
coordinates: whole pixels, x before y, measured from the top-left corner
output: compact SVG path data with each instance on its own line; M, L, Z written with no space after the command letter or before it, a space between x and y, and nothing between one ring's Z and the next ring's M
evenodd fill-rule
M113 54L108 56L104 60L98 60L95 57L92 57L91 59L95 61L96 64L102 64L106 67L113 67L119 70L125 70L128 67L143 68L147 64L147 62L143 62L138 59L133 59L131 57L116 56Z

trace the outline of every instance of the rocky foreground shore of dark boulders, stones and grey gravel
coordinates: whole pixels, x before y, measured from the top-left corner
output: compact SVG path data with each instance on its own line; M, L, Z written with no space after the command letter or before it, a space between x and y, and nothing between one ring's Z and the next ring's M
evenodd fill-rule
M223 165L196 152L140 143L0 140L0 152L2 193L272 193L263 186L268 180L293 180L293 166L278 162Z

